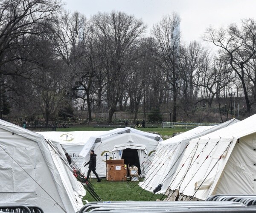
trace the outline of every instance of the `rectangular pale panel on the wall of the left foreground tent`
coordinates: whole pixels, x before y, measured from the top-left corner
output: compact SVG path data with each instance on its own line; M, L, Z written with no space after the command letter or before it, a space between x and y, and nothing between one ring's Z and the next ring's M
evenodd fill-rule
M6 152L0 150L0 169L3 171L0 180L6 180L0 181L0 192L34 192L35 183L32 178L35 179L35 148L12 147L7 148Z

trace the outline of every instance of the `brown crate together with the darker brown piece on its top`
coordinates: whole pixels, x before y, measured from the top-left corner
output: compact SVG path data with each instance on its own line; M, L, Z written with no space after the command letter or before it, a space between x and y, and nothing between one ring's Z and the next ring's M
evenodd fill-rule
M107 160L107 181L126 181L127 167L124 160Z

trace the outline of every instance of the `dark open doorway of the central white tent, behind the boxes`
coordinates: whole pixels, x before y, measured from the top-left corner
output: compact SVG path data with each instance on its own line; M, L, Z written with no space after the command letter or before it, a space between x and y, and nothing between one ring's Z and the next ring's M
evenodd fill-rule
M129 167L131 167L131 166L138 167L138 174L139 175L141 174L138 150L135 150L135 149L123 150L121 159L124 159L125 164L127 165L127 168L128 168L128 165L129 165ZM130 172L129 172L129 168L128 168L128 175L129 174L130 174Z

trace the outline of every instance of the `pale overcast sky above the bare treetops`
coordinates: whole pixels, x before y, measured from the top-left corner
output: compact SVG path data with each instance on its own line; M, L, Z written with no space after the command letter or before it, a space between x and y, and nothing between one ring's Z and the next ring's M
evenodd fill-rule
M98 12L122 11L142 18L148 25L163 15L176 12L180 15L182 40L201 41L201 35L209 26L227 26L239 23L242 18L255 18L256 0L63 0L65 9L79 11L87 18Z

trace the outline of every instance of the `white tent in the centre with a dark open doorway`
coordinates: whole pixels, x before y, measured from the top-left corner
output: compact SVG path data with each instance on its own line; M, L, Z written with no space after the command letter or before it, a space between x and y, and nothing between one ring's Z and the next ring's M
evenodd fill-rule
M124 158L125 161L129 161L128 157L131 155L136 156L132 160L135 161L137 158L135 166L140 167L141 173L144 173L145 165L154 155L158 141L163 141L160 135L126 127L91 137L84 145L80 155L85 157L84 162L88 162L89 151L94 150L97 155L96 172L99 177L106 176L106 160ZM127 153L128 150L131 151L130 154ZM125 158L125 155L128 157Z

